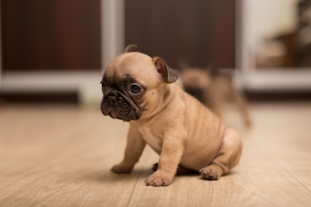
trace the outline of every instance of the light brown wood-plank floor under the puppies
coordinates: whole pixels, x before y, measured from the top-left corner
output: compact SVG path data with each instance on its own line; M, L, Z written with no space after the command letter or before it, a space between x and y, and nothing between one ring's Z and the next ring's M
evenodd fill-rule
M129 125L93 108L0 108L0 207L311 207L311 103L252 104L239 165L218 181L177 176L144 184L158 156L146 148L131 174L121 161Z

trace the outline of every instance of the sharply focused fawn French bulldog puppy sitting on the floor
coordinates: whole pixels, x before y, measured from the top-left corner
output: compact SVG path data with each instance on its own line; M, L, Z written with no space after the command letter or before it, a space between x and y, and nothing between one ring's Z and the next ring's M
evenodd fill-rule
M178 75L163 59L130 52L134 47L116 57L101 80L103 115L130 123L124 159L111 170L131 172L149 144L159 160L147 185L170 185L178 169L219 179L237 165L240 137L175 83Z

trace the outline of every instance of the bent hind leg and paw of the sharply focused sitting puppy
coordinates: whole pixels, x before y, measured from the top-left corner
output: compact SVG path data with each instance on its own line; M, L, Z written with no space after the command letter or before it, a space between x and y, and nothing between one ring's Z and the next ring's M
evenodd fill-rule
M225 131L225 137L218 153L211 164L202 168L199 173L208 180L217 180L237 165L242 151L242 141L231 128Z

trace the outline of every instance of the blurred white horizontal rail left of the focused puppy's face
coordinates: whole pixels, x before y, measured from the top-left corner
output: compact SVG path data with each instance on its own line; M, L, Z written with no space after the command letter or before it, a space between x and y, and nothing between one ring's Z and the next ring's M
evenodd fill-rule
M102 72L10 72L2 73L3 92L66 92L77 91L82 105L96 104L102 98Z

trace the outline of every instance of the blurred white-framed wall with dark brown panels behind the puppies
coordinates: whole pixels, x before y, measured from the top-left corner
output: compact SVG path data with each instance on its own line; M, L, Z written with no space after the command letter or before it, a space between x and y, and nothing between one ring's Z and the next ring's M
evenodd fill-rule
M248 100L311 100L311 0L0 0L1 103L93 104L128 44L233 71Z

